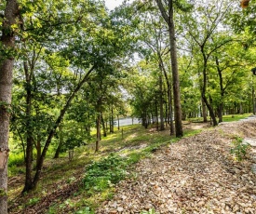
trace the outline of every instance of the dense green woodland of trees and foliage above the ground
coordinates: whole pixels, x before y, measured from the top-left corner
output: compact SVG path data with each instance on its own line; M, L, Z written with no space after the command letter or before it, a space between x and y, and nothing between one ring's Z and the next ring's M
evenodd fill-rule
M88 147L96 157L116 131L120 141L137 135L121 118L178 140L184 125L255 114L255 9L246 0L134 0L111 11L101 0L1 2L0 213L7 174L20 173L19 194L32 194L46 159L68 152L71 163Z

